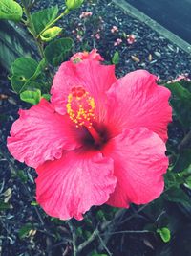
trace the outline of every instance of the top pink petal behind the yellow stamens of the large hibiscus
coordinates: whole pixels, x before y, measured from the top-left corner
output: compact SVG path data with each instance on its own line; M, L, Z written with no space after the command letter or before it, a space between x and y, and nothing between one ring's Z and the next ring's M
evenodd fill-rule
M82 86L94 97L97 113L103 115L105 92L115 81L117 79L114 65L101 65L92 59L85 59L77 64L67 61L61 64L55 74L51 101L57 112L65 114L68 95L72 87Z

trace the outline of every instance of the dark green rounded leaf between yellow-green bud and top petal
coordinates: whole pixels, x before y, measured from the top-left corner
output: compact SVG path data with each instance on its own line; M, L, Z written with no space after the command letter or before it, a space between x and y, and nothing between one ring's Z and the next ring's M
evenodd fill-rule
M45 57L50 64L58 66L69 57L73 46L73 39L69 37L56 39L45 48Z

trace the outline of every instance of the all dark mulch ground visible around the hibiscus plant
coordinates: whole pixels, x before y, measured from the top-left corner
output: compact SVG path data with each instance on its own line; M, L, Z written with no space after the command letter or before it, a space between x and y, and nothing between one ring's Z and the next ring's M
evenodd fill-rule
M56 3L62 5L63 0L56 1ZM53 0L38 1L36 10L52 4ZM82 11L93 12L93 15L86 20L81 20L79 15ZM160 79L169 81L177 75L189 73L191 70L190 56L146 25L116 8L109 0L87 1L80 10L70 14L67 19L60 21L60 24L64 27L64 35L74 38L74 51L90 50L96 47L107 62L110 62L114 53L118 51L120 56L117 65L118 77L129 71L144 68L158 75ZM118 27L119 31L116 34L111 33L113 25ZM77 28L78 32L76 31ZM72 33L73 30L74 33ZM100 34L100 39L96 39L97 33ZM136 35L137 41L129 45L124 38L125 34ZM82 36L81 41L76 39L76 35ZM123 42L115 47L114 42L117 38L121 38ZM11 124L18 117L18 109L30 106L22 103L19 97L11 91L7 75L5 70L1 71L0 254L2 256L72 255L68 223L54 220L46 216L39 206L32 205L32 202L35 201L35 172L15 161L6 148L7 136ZM178 131L177 140L180 140L182 137L180 129L177 126L172 126L172 128L172 135L175 134L174 130ZM92 233L92 227L96 226L98 222L96 213L100 208L93 208L84 221L79 223L74 221L77 228L87 232L84 235L87 239L90 232ZM144 214L138 214L137 209L138 207L134 206L125 211L112 230L117 228L118 230L125 228L142 230L148 217L145 217ZM110 207L106 207L105 211L111 212L112 210ZM124 221L131 215L134 217L131 221ZM110 218L111 216L108 217L108 220ZM92 221L91 225L90 220ZM79 231L79 229L77 230ZM80 236L78 240L82 240ZM105 241L107 244L107 240ZM156 251L159 251L162 243L159 238L150 234L123 234L110 237L108 246L110 251L114 253L113 255L117 256L149 256L157 255ZM109 255L104 246L98 246L97 241L95 244L89 245L81 255L91 255L90 252L94 249Z

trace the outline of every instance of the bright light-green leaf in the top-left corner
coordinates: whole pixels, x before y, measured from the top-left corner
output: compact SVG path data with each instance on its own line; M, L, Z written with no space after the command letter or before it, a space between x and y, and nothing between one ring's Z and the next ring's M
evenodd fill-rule
M0 1L0 19L20 21L23 15L22 7L13 0Z

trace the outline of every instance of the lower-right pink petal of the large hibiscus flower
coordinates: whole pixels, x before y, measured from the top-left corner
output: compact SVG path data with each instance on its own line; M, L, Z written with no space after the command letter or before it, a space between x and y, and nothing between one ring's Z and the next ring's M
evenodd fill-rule
M108 204L128 207L131 202L148 203L159 197L168 158L165 144L156 133L147 128L124 130L102 152L114 159L117 177L117 187Z

